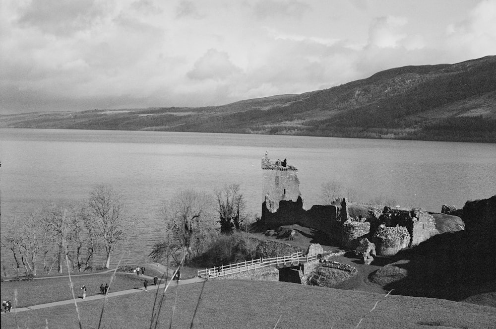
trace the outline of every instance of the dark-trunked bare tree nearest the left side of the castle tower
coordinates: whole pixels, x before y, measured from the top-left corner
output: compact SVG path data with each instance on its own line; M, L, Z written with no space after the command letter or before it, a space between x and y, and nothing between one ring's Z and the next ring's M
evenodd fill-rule
M226 186L215 193L219 205L219 223L221 233L230 234L233 228L241 229L241 224L248 218L246 201L240 192L239 184Z

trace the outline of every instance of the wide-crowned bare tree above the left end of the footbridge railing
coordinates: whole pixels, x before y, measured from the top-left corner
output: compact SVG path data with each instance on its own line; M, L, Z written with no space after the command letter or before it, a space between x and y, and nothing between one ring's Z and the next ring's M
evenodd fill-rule
M180 191L171 200L164 201L160 214L168 236L162 248L169 249L170 255L178 259L186 257L186 262L198 255L208 243L208 231L214 226L211 210L211 198L193 190ZM183 255L178 257L179 250Z

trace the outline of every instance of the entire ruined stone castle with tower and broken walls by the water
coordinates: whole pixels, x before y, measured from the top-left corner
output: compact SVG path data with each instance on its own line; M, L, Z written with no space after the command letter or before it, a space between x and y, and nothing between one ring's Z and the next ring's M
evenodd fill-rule
M438 231L434 217L421 209L391 209L375 204L349 203L346 198L329 205L303 206L298 170L286 159L271 163L262 157L263 188L261 222L265 229L298 224L327 235L329 242L355 249L364 238L376 244L378 256L391 256L416 246Z

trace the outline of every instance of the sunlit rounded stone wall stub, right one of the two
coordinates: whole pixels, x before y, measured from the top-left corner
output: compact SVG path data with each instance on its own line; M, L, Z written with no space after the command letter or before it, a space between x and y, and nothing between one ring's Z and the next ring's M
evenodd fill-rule
M379 225L372 237L375 254L378 256L394 256L401 249L407 248L410 234L404 226L387 227Z

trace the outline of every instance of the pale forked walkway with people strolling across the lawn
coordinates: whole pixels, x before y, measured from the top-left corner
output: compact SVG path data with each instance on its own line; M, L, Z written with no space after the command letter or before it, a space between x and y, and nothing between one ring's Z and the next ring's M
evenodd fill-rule
M110 272L113 272L114 270L110 270ZM105 273L105 272L99 272L98 274L101 274L101 273ZM121 274L123 274L122 272L120 272ZM81 274L81 275L92 275L93 273L91 274ZM97 274L97 273L94 273L94 274ZM134 274L134 273L124 273L124 274ZM136 274L134 274L136 275ZM71 275L72 276L72 275ZM151 282L153 282L153 277L152 276L148 276L148 275L140 275L140 277L144 277L144 278L147 278L149 281L151 280ZM61 276L55 276L53 278L60 278ZM39 278L39 279L48 279L49 277L44 277L44 278ZM180 280L179 281L179 285L184 285L184 284L191 284L191 283L197 283L197 282L204 282L205 279L202 279L200 277L193 277L192 279L186 279L186 280ZM171 283L171 287L175 287L176 285L178 285L177 282L173 282ZM152 285L149 285L148 286L148 291L153 291L153 290L157 290L157 289L164 289L166 286L166 283L162 283L162 284L158 284L156 286L154 286L153 284ZM111 287L112 289L112 287ZM146 292L148 292L146 291ZM121 295L127 295L127 294L134 294L134 293L138 293L138 292L145 292L144 288L133 288L133 289L127 289L127 290L121 290L121 291L115 291L115 292L109 292L107 294L107 298L109 297L115 297L115 296L121 296ZM92 301L92 300L97 300L97 299L104 299L105 298L105 295L92 295L92 296L87 296L85 299L82 299L80 297L76 297L76 303L84 303L84 302L87 302L87 301ZM44 309L44 308L47 308L47 307L54 307L54 306L59 306L59 305L66 305L66 304L74 304L74 300L73 299L68 299L68 300L62 300L62 301L59 301L59 302L53 302L53 303L46 303L46 304L39 304L39 305L33 305L33 306L26 306L26 307L19 307L19 308L12 308L12 310L10 311L11 313L13 312L24 312L24 311L32 311L32 310L38 310L38 309ZM2 314L4 314L2 312Z

